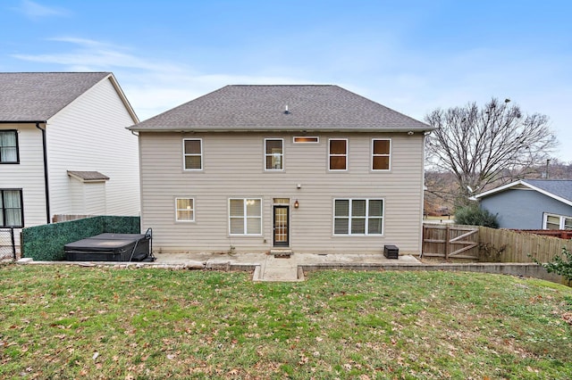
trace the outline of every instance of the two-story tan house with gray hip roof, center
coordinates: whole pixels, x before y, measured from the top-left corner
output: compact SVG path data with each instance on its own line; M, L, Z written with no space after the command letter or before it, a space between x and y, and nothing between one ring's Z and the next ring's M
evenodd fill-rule
M227 86L130 127L158 252L421 252L425 133L337 86Z

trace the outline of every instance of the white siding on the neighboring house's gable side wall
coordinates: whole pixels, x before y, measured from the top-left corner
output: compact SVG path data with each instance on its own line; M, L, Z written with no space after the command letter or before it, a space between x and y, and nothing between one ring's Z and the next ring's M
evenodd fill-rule
M48 121L53 215L74 214L80 209L87 213L139 215L138 141L125 129L133 122L109 79L80 95ZM103 187L80 184L83 189L78 190L77 184L71 186L67 170L99 171L110 179ZM100 193L102 188L104 194ZM96 197L88 196L94 191ZM78 192L84 194L83 204L78 204Z

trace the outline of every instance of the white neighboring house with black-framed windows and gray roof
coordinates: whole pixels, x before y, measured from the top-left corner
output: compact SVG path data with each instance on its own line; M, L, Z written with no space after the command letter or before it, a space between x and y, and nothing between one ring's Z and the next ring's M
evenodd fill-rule
M137 122L111 72L0 73L0 228L139 215Z

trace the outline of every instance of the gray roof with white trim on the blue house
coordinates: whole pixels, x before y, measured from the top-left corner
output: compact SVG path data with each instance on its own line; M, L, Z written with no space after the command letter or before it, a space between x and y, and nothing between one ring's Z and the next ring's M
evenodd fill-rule
M482 199L511 189L530 189L572 206L572 180L571 179L520 179L508 185L499 186L474 196Z

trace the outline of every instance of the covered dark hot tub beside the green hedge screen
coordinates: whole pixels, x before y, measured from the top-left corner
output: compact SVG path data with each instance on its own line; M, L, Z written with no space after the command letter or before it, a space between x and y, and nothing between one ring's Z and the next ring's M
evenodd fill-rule
M154 261L151 235L100 234L65 244L68 261Z

